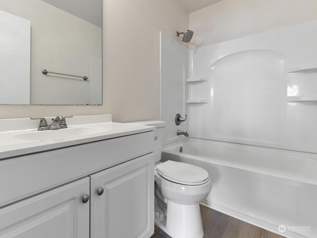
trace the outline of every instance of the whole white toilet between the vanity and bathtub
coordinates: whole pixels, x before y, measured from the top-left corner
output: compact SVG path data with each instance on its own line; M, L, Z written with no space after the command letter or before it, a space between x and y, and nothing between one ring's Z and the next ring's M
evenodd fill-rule
M129 122L156 126L155 144L155 224L172 238L203 238L199 202L211 191L206 170L187 163L166 161L160 156L164 137L164 121Z

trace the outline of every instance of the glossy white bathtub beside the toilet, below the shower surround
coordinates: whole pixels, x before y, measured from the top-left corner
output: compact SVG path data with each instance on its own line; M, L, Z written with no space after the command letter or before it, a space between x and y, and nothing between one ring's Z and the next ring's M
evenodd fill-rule
M161 158L208 171L202 204L287 238L317 238L317 154L187 138Z

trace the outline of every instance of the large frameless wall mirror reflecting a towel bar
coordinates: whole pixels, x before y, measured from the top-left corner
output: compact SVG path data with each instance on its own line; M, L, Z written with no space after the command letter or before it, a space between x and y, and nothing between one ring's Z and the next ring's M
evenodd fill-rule
M0 34L0 104L102 104L102 0L1 0Z

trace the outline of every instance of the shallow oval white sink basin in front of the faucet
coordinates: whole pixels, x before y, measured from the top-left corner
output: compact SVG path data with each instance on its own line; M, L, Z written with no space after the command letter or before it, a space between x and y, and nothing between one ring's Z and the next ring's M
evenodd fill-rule
M68 140L70 138L78 138L80 136L87 136L97 133L105 132L105 128L86 126L86 127L72 127L57 130L32 131L15 135L16 138L22 140Z

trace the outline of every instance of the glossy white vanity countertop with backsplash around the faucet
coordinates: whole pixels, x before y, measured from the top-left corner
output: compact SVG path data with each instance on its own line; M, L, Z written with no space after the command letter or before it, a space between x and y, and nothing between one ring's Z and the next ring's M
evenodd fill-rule
M68 128L38 131L38 120L0 119L0 160L155 129L113 122L111 115L75 116L66 122Z

